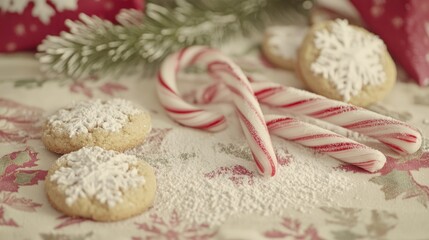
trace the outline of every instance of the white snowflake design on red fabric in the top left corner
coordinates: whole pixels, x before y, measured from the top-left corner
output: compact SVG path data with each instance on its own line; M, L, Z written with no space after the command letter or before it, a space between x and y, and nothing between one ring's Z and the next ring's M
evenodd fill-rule
M78 0L50 0L57 11L76 10ZM49 24L51 17L55 14L54 8L48 4L48 0L0 0L0 10L21 14L28 4L34 3L31 11L33 17L37 17L44 24Z

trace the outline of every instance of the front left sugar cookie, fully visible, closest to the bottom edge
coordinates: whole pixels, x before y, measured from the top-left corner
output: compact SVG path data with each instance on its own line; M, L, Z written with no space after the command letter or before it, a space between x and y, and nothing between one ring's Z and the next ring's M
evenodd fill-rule
M135 156L84 147L51 166L45 190L51 205L68 216L116 221L152 206L156 179L153 168Z

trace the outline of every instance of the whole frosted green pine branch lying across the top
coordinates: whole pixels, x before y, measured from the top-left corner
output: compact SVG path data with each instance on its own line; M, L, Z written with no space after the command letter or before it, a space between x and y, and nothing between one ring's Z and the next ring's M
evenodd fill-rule
M44 70L79 77L123 72L136 66L153 72L171 52L191 45L219 45L247 35L275 19L305 13L304 0L176 0L175 7L149 3L143 17L135 10L117 16L119 25L80 15L67 21L70 32L39 45ZM310 2L311 4L311 2Z

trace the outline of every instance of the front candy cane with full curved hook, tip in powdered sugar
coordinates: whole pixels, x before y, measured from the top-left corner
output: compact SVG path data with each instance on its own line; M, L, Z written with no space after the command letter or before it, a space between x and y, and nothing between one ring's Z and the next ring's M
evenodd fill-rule
M224 78L229 89L244 135L250 146L258 170L265 176L274 176L277 158L271 143L258 100L246 75L222 53L207 47L189 47L170 55L158 73L157 91L167 114L177 122L203 130L218 131L225 127L225 117L191 105L178 92L176 81L180 69L196 62L210 69L228 69L232 78Z

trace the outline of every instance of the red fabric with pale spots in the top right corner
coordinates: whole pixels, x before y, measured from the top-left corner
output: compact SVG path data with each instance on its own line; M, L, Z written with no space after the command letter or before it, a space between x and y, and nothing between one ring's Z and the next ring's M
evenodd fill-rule
M429 0L351 0L368 28L421 86L429 85Z

